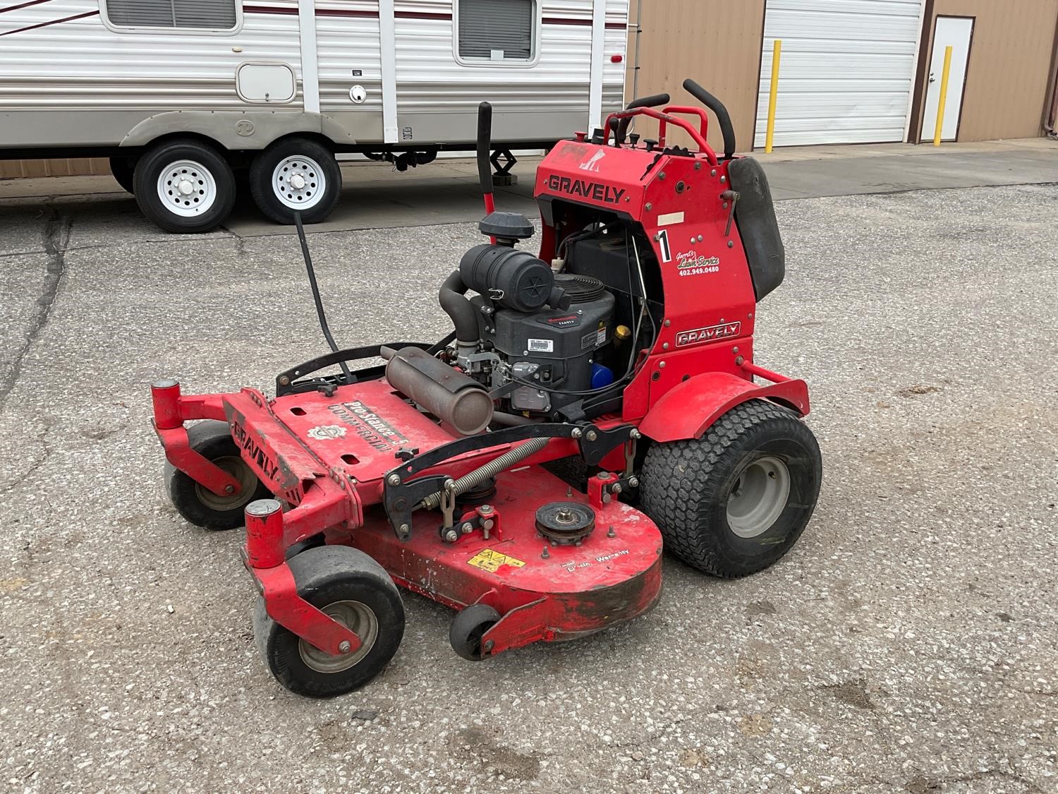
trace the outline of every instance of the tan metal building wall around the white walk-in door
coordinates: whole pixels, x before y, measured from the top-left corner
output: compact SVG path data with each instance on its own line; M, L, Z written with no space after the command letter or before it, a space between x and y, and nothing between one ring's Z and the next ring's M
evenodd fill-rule
M1058 0L933 0L915 94L911 140L922 129L937 16L975 17L957 140L1043 134L1047 85L1058 36ZM927 7L927 12L930 8ZM935 120L927 119L932 129ZM926 138L930 136L927 134Z

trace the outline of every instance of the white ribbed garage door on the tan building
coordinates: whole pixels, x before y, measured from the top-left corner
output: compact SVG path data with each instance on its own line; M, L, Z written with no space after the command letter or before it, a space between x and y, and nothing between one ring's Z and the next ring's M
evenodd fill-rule
M767 0L755 146L782 39L776 146L902 141L923 0Z

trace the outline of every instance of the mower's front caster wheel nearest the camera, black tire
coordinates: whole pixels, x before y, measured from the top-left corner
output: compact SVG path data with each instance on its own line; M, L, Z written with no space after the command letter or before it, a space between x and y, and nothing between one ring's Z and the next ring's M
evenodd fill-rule
M361 639L352 653L324 653L269 617L264 599L254 609L254 639L276 681L309 698L333 698L368 683L397 653L404 636L404 604L378 562L351 546L309 548L287 563L297 592Z

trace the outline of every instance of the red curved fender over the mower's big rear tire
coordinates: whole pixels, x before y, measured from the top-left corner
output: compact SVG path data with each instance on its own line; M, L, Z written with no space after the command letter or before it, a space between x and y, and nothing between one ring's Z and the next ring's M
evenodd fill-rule
M639 431L655 441L699 438L710 426L746 400L766 399L808 413L808 386L803 380L759 384L730 373L703 373L669 390L646 412Z

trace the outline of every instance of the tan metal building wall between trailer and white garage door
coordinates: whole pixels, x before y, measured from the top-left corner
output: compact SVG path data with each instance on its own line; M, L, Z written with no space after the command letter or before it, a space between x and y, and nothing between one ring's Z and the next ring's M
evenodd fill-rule
M753 145L761 47L764 40L765 0L633 0L628 8L628 74L625 100L632 98L635 78L635 21L642 2L639 41L639 96L668 91L673 103L695 104L680 84L692 77L717 96L731 113L740 151ZM709 143L722 145L710 114ZM639 131L656 130L641 122ZM670 142L686 144L680 134Z

